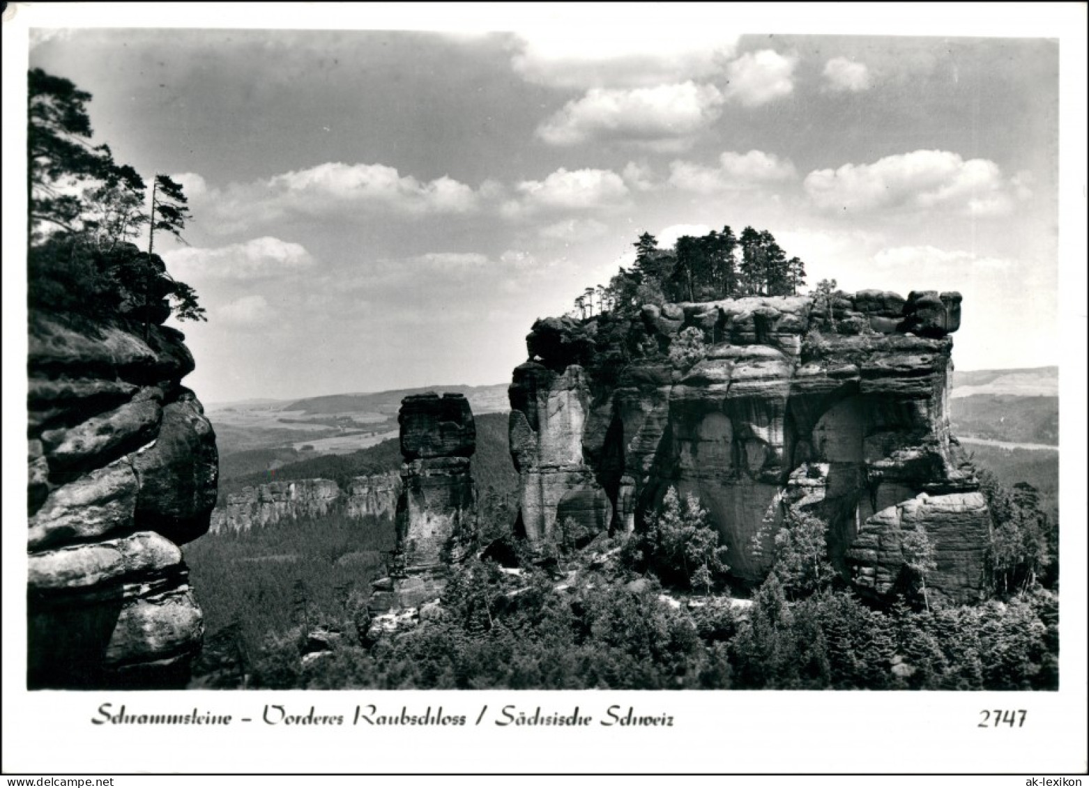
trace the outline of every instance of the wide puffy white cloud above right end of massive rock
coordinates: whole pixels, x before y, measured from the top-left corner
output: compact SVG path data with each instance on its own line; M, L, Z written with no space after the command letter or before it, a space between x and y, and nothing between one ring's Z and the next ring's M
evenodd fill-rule
M815 170L806 176L805 189L818 207L829 210L938 209L978 217L1008 213L1025 195L1023 184L1003 177L993 161L966 161L945 150Z

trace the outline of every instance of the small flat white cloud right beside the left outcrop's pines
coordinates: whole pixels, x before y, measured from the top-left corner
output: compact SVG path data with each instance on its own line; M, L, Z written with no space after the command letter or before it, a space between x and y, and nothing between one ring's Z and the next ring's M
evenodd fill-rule
M314 268L302 244L272 236L213 249L185 247L163 254L170 272L182 280L248 280L281 276Z

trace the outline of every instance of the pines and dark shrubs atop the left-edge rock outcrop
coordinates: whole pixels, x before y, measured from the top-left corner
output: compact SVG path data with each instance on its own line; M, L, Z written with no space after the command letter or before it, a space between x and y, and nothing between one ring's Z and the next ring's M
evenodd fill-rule
M28 300L32 308L161 323L205 320L194 290L152 254L155 233L182 239L182 186L156 173L151 196L135 169L93 145L90 94L34 69L27 100ZM148 226L147 251L132 242ZM183 239L184 243L184 239Z

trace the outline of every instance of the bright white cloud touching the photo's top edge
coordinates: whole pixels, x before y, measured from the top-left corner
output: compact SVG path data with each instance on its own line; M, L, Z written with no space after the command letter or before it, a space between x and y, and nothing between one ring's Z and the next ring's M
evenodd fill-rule
M517 34L514 70L527 82L561 88L649 87L722 72L737 36L713 25L680 32L624 25L603 33L568 25Z

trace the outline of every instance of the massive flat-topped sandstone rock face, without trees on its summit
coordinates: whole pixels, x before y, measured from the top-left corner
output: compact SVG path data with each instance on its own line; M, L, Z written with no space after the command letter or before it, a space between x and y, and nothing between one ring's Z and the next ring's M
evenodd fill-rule
M521 528L531 544L564 521L580 539L632 530L673 485L709 509L741 577L763 576L752 537L796 506L829 521L832 561L864 591L893 589L895 533L922 527L928 588L977 599L989 516L947 416L959 320L956 293L862 291L538 321L510 387ZM688 328L702 352L671 355Z

